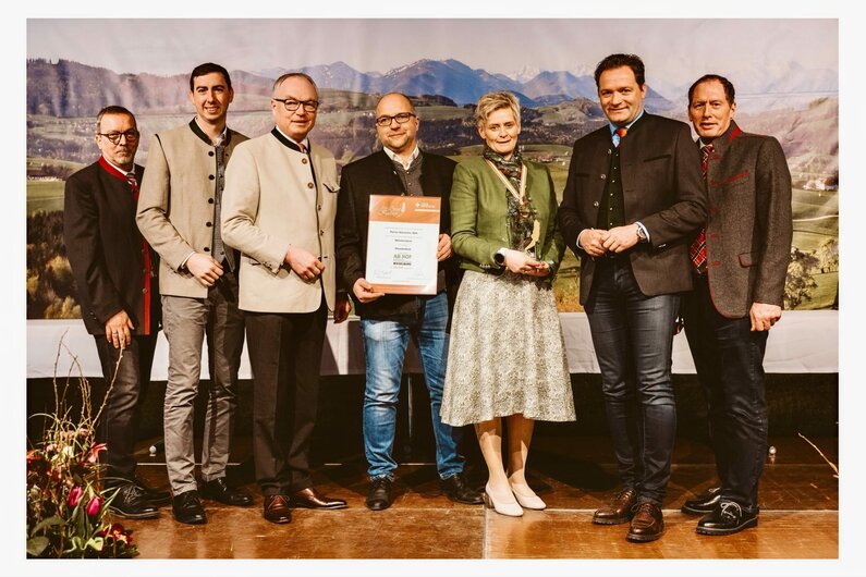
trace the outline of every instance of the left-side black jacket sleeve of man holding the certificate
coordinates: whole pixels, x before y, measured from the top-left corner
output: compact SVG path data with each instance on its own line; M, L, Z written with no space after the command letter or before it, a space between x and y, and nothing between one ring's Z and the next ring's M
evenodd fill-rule
M343 169L340 175L340 195L337 199L337 283L354 298L352 288L364 277L365 255L362 255L362 238L357 226L354 179L352 169ZM365 211L366 213L366 211Z

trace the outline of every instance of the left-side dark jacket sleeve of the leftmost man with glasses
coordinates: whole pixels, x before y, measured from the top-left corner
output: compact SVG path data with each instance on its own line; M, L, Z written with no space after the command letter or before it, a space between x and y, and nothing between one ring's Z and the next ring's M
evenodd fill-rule
M123 310L123 298L108 273L99 234L99 210L92 186L75 176L66 181L63 200L63 242L78 292L105 324Z

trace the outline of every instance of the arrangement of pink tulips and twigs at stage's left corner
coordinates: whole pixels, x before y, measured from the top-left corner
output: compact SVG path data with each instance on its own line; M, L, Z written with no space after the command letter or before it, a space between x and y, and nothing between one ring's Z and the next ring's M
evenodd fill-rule
M61 339L58 346L58 360ZM69 352L69 349L66 349ZM77 358L73 365L83 373ZM122 358L122 355L121 355ZM57 382L54 361L54 413L41 415L46 428L40 442L27 451L27 556L28 557L132 557L138 554L132 530L111 523L109 504L113 492L103 489L103 466L99 453L105 443L96 442L96 415L90 406L90 385L78 377L81 408L71 406L71 379ZM120 364L120 360L118 360ZM71 372L71 371L70 371ZM115 369L117 375L117 369ZM112 382L106 398L113 388Z

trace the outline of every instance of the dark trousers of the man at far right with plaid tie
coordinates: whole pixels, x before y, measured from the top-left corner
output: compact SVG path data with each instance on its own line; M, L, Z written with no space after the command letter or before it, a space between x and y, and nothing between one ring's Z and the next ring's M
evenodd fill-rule
M683 299L683 317L707 398L721 496L754 510L767 454L764 352L768 332L752 331L747 316L719 315L706 277L698 278L695 290Z

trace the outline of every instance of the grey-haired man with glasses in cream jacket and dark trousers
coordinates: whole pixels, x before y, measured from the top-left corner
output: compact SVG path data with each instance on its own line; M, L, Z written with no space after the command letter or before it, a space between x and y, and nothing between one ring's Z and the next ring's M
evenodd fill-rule
M309 441L316 419L328 309L336 296L337 164L310 145L318 90L301 73L277 78L275 128L235 150L223 196L222 235L241 250L240 307L254 375L253 454L264 516L290 523L292 507L343 508L316 491Z

